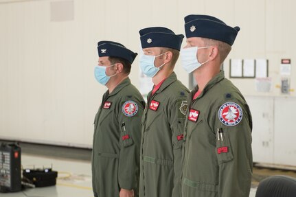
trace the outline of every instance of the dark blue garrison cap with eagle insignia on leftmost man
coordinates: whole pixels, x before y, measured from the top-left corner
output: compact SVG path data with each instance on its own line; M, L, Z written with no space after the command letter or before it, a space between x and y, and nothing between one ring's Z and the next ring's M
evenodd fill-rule
M124 45L105 40L98 42L98 54L99 57L112 56L117 58L124 58L125 60L128 60L130 64L133 63L137 56L137 53L130 51L130 49L127 49L126 47L124 47Z

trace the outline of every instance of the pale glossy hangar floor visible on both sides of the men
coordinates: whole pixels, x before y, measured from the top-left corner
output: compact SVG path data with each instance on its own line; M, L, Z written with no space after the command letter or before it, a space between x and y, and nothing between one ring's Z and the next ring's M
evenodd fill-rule
M23 168L53 167L58 171L57 183L52 187L25 189L16 193L0 193L1 197L80 197L93 196L91 189L91 150L20 143ZM258 183L272 175L296 177L296 172L254 167L250 197L255 197Z

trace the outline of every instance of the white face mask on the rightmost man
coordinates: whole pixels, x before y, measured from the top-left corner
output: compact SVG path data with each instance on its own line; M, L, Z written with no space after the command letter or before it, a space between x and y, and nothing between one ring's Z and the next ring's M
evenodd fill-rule
M204 65L206 62L209 61L207 60L203 63L200 63L197 60L197 50L206 48L209 47L188 47L185 49L181 49L181 64L183 69L185 69L187 73L191 73L192 71L194 71L198 67L201 67L201 65Z

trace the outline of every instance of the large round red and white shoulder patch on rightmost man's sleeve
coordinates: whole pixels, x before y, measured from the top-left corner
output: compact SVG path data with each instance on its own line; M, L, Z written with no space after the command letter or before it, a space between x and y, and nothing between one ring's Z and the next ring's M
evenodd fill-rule
M220 121L226 126L236 126L242 120L242 108L235 102L225 102L218 111Z

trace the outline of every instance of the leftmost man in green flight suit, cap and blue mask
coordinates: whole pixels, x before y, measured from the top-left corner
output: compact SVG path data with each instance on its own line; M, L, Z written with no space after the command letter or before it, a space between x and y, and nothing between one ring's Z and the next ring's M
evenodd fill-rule
M93 193L96 197L138 196L141 115L145 102L128 74L137 56L124 45L100 41L95 79L105 85L95 115Z

